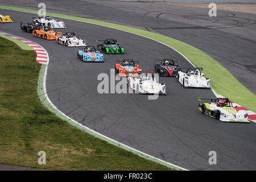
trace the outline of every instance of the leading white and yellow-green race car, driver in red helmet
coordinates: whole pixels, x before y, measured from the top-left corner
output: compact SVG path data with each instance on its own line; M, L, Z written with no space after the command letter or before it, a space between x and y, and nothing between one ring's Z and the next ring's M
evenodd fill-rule
M201 100L210 100L209 103L200 103ZM201 98L199 97L199 110L210 117L224 122L245 122L248 121L246 110L236 110L228 98Z

